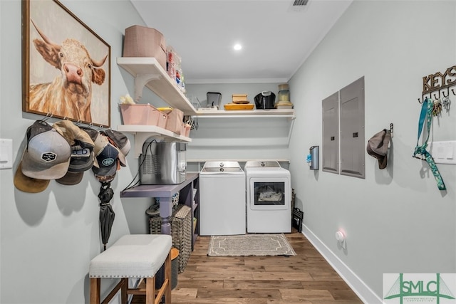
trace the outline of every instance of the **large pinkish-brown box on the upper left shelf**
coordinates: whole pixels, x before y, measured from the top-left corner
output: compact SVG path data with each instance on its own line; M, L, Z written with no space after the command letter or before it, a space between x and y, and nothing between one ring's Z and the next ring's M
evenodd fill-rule
M145 26L125 28L123 57L155 57L166 71L166 41L160 31Z

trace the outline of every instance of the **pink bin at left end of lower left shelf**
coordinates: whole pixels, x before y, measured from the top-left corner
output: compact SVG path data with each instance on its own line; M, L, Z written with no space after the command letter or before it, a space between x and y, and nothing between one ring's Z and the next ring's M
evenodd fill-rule
M120 112L122 113L123 125L159 125L163 120L161 117L163 113L148 103L120 105Z

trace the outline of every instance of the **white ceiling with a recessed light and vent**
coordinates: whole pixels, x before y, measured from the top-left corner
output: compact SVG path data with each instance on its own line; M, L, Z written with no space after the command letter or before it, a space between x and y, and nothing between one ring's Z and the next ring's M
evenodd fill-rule
M131 1L182 57L186 83L283 83L352 0Z

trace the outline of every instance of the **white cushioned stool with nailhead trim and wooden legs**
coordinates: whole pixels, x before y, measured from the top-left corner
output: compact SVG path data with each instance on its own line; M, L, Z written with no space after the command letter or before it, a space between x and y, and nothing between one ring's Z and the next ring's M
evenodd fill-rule
M127 295L145 295L146 304L158 304L165 295L171 303L172 237L166 234L122 236L107 250L90 261L90 304L100 304L101 278L120 278L120 282L101 303L108 303L120 290L122 303ZM165 279L155 295L155 273L165 264ZM145 278L145 288L128 288L128 278Z

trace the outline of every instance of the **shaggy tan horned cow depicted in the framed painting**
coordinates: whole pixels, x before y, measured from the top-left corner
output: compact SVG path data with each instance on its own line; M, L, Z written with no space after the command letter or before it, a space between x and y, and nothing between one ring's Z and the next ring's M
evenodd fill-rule
M90 57L86 46L76 39L67 38L59 45L51 41L35 23L33 26L42 38L33 39L33 45L47 63L60 71L60 75L51 83L30 85L30 110L92 122L92 83L102 85L105 81L105 70L101 66L108 54L96 61Z

